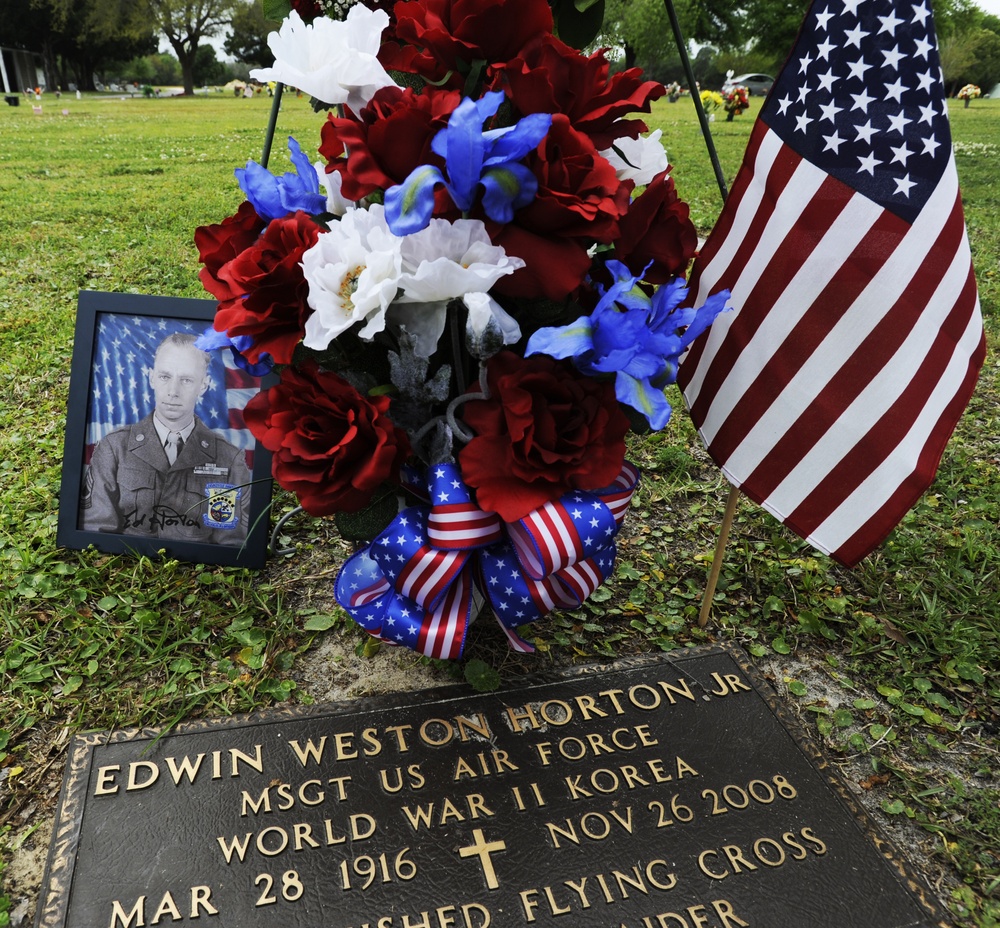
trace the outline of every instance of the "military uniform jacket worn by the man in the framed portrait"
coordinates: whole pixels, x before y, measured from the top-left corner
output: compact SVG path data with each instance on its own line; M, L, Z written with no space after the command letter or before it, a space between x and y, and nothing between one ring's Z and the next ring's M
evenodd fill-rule
M98 442L84 478L80 527L242 544L247 536L250 472L244 453L195 417L173 466L152 413Z

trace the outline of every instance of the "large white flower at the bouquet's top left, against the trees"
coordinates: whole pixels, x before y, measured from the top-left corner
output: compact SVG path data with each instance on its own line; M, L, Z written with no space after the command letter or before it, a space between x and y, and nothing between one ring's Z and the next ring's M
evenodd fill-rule
M292 10L279 31L267 37L274 67L257 68L250 76L282 81L324 103L346 103L360 113L375 91L393 83L376 57L388 25L387 13L360 3L343 22L320 16L310 25Z

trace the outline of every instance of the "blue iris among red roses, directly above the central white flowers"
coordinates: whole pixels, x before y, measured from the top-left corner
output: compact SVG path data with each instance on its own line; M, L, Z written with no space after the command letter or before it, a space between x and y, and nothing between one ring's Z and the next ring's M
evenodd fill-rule
M431 149L445 162L447 176L424 164L385 193L385 215L396 235L426 229L434 212L434 188L444 184L455 205L472 209L483 188L483 210L496 222L510 222L514 210L527 206L538 193L538 180L520 160L549 131L552 117L533 113L513 126L483 131L496 115L504 95L484 94L480 100L464 99L451 114L448 125L431 141Z

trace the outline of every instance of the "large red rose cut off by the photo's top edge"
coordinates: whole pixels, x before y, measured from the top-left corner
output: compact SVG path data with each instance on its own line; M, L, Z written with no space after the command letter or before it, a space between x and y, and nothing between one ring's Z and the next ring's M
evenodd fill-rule
M383 66L405 66L434 82L451 72L447 86L456 89L473 61L510 61L552 31L547 0L416 0L394 10L397 38L422 52L388 61L380 55Z

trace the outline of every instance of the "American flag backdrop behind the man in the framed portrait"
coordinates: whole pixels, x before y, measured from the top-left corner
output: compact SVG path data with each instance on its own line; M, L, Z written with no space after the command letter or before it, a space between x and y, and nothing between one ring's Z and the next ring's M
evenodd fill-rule
M87 463L94 445L108 432L138 422L153 411L149 371L160 342L173 332L200 335L205 325L203 320L98 315L87 410ZM227 351L212 355L208 379L208 390L195 414L227 441L243 448L252 470L254 438L243 422L243 407L260 389L260 378L237 368Z

